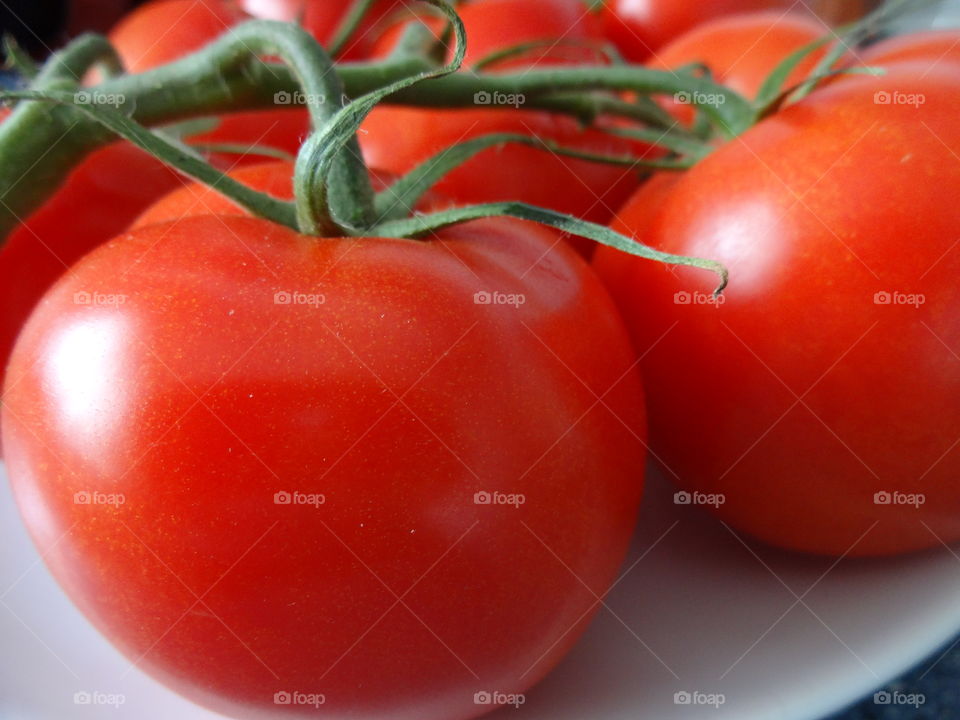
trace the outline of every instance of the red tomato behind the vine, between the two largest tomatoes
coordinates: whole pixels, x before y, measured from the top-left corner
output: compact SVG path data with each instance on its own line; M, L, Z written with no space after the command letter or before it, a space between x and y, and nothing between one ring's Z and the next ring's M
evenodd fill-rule
M460 15L474 57L479 57L498 47L541 38L545 32L563 37L570 29L566 14L570 7L567 0L484 0L463 7ZM598 154L652 155L648 146L584 130L569 117L493 106L508 99L481 97L478 103L483 107L465 109L378 107L359 134L364 158L372 167L402 174L450 145L499 132L543 137ZM513 98L518 106L524 100ZM638 183L637 172L623 166L507 145L478 154L449 173L436 190L461 204L520 200L606 222ZM590 244L578 247L584 253L592 250Z

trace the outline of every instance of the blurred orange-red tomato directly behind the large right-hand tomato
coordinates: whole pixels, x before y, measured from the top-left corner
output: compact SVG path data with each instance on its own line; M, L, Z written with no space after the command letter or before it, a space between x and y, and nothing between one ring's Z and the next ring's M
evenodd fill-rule
M716 82L752 99L782 60L828 32L826 25L808 15L779 11L729 15L681 35L657 51L648 64L669 70L703 63ZM824 48L808 55L787 78L785 87L809 77L825 53Z

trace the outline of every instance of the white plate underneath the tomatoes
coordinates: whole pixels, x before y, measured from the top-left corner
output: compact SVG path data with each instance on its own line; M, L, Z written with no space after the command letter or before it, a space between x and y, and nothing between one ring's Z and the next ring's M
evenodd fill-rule
M812 720L960 631L960 558L831 560L748 546L651 478L625 576L513 720ZM60 592L0 474L0 717L219 717L132 668ZM122 695L119 708L74 694ZM722 694L677 704L675 693ZM698 696L704 699L702 696ZM716 698L719 700L719 698Z

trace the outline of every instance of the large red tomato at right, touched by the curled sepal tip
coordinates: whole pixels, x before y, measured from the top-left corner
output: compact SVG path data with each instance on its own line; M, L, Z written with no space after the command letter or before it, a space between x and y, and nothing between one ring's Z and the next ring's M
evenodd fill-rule
M729 268L717 301L703 272L597 253L642 355L652 450L774 545L960 539L948 65L833 83L630 200L616 229Z

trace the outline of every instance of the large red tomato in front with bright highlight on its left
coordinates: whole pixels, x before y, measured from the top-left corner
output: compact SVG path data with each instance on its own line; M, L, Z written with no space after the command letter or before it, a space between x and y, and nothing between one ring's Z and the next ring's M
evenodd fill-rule
M523 692L613 580L644 460L612 301L506 220L141 227L31 317L2 424L77 606L243 718L456 720Z

